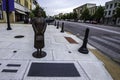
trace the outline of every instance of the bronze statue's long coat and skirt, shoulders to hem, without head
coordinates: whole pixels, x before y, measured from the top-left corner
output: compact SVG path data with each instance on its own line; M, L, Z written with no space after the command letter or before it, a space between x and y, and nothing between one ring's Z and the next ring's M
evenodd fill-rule
M32 20L32 26L35 32L35 38L34 38L34 47L36 49L43 48L44 45L44 32L46 30L46 21L44 18L33 18Z

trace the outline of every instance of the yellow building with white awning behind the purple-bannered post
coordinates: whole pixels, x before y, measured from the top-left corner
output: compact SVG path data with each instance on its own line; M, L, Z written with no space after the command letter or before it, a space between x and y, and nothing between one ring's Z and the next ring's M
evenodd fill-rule
M36 0L14 0L15 11L9 13L10 22L24 21L29 18L33 1ZM0 0L0 22L6 22L6 12L2 11L2 0Z

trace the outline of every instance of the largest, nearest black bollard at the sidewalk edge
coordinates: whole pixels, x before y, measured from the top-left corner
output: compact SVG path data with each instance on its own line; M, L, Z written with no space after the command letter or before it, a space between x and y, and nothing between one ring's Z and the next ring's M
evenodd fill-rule
M80 53L88 54L88 52L89 52L88 49L87 49L88 35L89 35L89 28L86 29L86 31L85 31L85 37L84 37L84 40L83 40L83 44L78 49L78 51Z

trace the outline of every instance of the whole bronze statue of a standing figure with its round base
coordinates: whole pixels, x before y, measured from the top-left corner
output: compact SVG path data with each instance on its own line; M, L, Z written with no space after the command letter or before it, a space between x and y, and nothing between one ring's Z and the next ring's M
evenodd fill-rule
M46 53L41 49L44 48L44 32L46 30L46 21L42 17L42 10L39 9L36 17L32 19L32 27L35 32L34 36L34 47L37 49L36 52L33 53L33 56L36 58L42 58L46 56Z

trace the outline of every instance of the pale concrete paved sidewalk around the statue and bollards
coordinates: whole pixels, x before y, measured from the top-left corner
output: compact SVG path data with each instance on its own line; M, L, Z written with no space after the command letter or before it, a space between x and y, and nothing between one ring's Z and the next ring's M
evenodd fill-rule
M32 26L12 24L11 27L13 30L7 31L6 24L0 24L0 80L113 80L104 64L93 53L81 54L78 52L82 40L76 36L67 32L60 33L60 29L48 25L43 49L47 56L36 59L32 56L32 53L36 51ZM16 39L14 38L16 35L23 35L24 38ZM78 44L69 43L65 37L74 39ZM90 45L88 48L94 49ZM74 64L80 76L28 76L32 63ZM39 67L36 69L38 70ZM64 69L61 72L64 72Z

